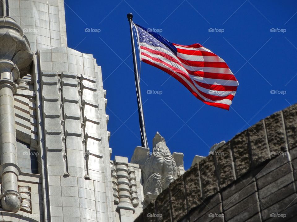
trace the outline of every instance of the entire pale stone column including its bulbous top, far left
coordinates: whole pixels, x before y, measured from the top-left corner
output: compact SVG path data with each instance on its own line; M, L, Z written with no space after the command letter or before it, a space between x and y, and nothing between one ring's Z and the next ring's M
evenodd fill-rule
M15 81L30 72L32 57L19 24L8 16L0 17L0 199L1 207L9 212L18 212L21 204L13 105Z

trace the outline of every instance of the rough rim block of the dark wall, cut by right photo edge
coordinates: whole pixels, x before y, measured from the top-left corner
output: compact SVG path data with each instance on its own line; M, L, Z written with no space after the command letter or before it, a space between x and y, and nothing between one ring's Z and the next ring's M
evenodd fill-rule
M297 146L297 104L284 109L282 113L286 126L288 147L292 149Z

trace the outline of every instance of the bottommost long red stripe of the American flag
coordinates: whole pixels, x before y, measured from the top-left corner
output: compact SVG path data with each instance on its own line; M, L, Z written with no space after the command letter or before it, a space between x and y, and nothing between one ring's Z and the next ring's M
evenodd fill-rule
M221 108L221 109L229 110L229 108L230 108L229 105L222 104L222 103L207 102L207 101L203 100L196 92L194 92L192 90L192 88L182 78L180 78L174 72L171 72L170 70L168 70L168 69L166 69L164 67L161 67L161 66L159 66L159 65L157 65L155 63L152 63L149 60L144 59L142 61L144 61L145 63L150 64L150 65L152 65L154 67L157 67L157 68L163 70L164 72L167 72L170 76L173 76L176 80L178 80L180 83L182 83L197 99L199 99L200 101L204 102L205 104L211 105L211 106L215 106L215 107L218 107L218 108Z

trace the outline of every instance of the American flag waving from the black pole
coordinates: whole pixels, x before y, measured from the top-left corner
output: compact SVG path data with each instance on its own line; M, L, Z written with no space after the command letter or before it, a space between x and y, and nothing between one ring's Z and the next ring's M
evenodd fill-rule
M228 65L196 43L179 45L135 24L140 58L173 76L207 105L229 110L238 81Z

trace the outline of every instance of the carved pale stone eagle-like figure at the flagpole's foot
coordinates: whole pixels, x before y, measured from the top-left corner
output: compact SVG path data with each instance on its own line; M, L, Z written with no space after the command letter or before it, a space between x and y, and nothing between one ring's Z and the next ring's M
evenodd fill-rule
M148 204L179 176L176 162L166 146L165 139L157 132L153 138L153 153L142 166L144 200Z

